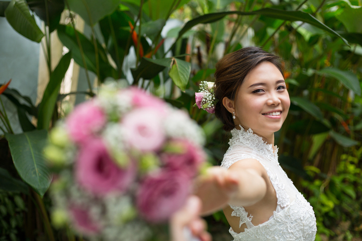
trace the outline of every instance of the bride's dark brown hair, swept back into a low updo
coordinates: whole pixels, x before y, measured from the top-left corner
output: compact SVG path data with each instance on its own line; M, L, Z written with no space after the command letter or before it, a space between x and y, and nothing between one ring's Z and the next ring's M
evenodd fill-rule
M235 128L232 114L222 104L224 97L235 99L239 86L245 76L258 64L269 61L273 63L284 77L284 69L280 58L259 47L245 47L225 55L216 64L215 97L219 100L215 105L215 115L224 124L225 131Z

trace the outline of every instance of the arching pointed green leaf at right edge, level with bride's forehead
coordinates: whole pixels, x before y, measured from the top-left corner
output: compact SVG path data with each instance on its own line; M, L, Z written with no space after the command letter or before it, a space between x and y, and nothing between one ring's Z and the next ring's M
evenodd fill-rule
M338 79L346 88L352 90L354 93L361 95L361 87L359 80L355 74L350 71L343 71L337 68L325 68L316 71L318 74L325 74L332 78Z

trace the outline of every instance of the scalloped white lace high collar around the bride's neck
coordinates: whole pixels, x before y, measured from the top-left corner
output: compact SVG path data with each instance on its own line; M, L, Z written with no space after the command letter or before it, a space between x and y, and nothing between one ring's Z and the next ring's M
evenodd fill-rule
M261 156L278 162L277 146L275 146L276 149L274 150L272 144L267 144L266 142L264 142L262 138L254 134L250 128L245 132L242 126L239 125L239 127L240 130L237 130L236 128L231 130L232 138L229 141L230 147L235 144L242 143L245 146L255 150Z

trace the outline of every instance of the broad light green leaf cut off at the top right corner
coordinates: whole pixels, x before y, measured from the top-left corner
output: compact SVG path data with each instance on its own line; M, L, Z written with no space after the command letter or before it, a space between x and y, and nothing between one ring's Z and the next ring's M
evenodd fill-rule
M362 33L362 7L346 5L343 12L336 16L348 32Z

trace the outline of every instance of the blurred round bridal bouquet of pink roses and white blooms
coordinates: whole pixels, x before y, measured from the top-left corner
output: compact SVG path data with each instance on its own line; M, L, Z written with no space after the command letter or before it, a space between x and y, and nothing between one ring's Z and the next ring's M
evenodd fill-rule
M135 87L101 88L49 134L54 225L90 240L147 240L185 204L205 161L189 115Z

